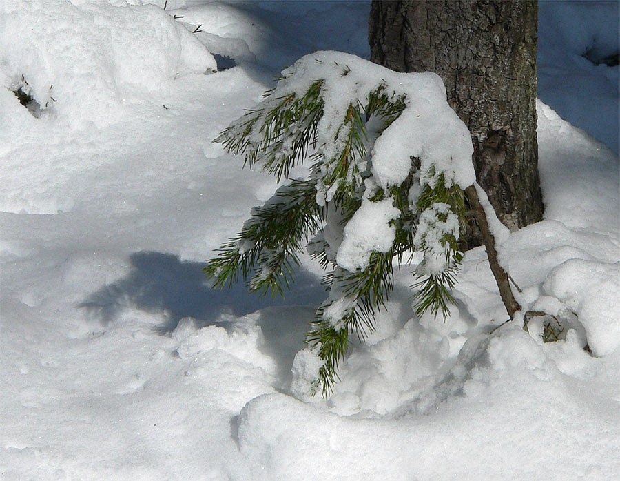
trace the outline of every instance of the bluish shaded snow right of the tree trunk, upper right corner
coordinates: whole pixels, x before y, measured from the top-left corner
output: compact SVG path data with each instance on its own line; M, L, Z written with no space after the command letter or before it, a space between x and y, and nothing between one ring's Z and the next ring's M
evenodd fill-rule
M539 98L616 154L620 72L595 63L618 54L619 17L617 1L539 2Z

